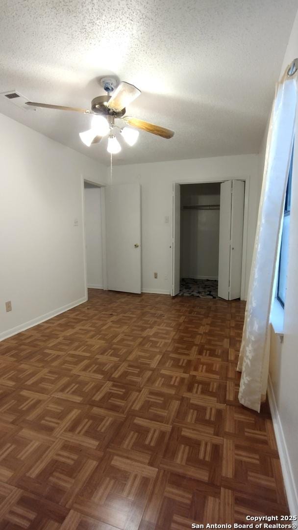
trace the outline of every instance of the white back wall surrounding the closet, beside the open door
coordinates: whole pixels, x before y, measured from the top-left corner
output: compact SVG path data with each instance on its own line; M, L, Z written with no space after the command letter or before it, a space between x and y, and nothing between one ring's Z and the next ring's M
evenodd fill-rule
M170 140L160 139L160 142ZM250 176L246 292L255 240L259 203L258 155L218 156L114 166L112 184L140 182L142 205L142 290L169 293L171 289L171 217L173 182L216 182ZM170 222L165 223L169 216ZM153 272L158 278L153 278Z

